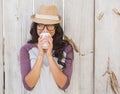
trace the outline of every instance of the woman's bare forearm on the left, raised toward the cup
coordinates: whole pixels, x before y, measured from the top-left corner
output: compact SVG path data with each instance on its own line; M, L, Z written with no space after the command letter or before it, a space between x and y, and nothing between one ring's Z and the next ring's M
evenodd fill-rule
M40 77L41 66L42 66L42 56L39 56L35 65L31 69L31 71L28 73L28 75L25 77L25 81L30 88L33 88L37 83Z

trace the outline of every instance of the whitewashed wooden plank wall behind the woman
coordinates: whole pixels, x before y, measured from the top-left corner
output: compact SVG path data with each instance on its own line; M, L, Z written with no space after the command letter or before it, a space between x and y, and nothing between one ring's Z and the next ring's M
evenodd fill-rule
M109 75L103 74L109 57L110 70L120 83L120 1L34 0L34 12L40 4L58 6L64 32L80 52L74 53L66 94L115 94ZM27 94L21 81L19 50L30 39L32 13L33 0L0 0L0 94Z

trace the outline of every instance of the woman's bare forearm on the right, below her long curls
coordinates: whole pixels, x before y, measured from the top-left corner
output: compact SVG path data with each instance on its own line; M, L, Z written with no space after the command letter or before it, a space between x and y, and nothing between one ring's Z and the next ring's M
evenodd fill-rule
M67 81L67 76L58 68L52 56L49 56L48 60L54 80L56 84L62 88Z

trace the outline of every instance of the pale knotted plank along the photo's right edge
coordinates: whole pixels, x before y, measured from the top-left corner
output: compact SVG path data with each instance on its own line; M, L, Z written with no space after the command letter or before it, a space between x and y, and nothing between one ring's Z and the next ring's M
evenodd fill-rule
M120 15L113 12L114 8L120 11L120 1L95 2L95 94L115 94L108 74L102 75L107 70L109 57L110 69L115 72L120 83Z

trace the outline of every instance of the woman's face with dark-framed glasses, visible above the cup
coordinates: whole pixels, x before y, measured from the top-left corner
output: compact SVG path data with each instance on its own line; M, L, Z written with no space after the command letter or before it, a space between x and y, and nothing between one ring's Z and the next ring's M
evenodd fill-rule
M55 25L54 24L37 24L37 34L40 35L42 32L48 32L51 36L54 36L55 34Z

